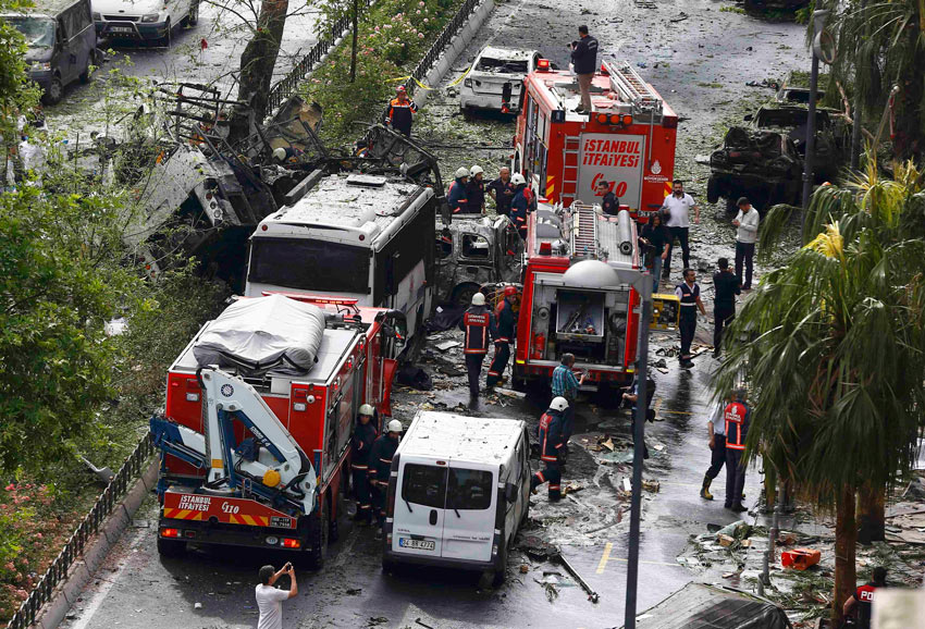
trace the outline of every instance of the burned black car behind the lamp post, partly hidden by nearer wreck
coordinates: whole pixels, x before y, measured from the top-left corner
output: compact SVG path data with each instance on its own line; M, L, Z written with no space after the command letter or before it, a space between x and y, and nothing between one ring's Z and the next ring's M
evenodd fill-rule
M851 146L851 127L834 109L816 109L816 147L813 174L817 184L835 178ZM762 107L747 115L755 130L776 131L793 140L800 157L806 157L809 110L799 106Z

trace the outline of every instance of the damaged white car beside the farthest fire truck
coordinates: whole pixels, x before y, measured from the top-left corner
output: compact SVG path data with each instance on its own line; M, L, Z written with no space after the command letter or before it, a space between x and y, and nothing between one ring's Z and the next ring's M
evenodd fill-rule
M486 46L476 57L459 88L459 107L465 113L476 109L517 113L523 78L536 69L540 53Z

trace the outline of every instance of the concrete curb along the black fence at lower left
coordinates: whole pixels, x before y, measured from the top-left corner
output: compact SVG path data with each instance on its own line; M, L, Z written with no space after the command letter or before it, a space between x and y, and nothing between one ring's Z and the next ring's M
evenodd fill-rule
M135 484L122 498L119 507L113 510L106 522L100 526L96 538L84 548L83 557L74 562L66 579L58 587L51 601L46 603L36 616L33 627L54 629L67 616L71 606L77 601L86 584L92 579L94 572L109 555L112 546L132 522L132 516L145 502L150 491L157 485L160 457L155 457Z

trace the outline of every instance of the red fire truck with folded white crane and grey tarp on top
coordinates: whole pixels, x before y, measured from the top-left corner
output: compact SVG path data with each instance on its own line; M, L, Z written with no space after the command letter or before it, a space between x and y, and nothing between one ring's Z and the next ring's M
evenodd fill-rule
M391 415L402 318L356 299L267 294L206 323L170 368L164 417L151 419L163 451L159 552L192 542L323 563L357 410ZM266 347L283 351L264 362Z

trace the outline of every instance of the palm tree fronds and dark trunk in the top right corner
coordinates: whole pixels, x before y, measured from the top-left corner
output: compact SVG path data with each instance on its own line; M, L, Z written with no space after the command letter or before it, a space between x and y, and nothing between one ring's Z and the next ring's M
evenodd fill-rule
M838 40L830 81L854 84L864 108L880 110L893 85L893 151L900 159L925 152L925 2L921 0L819 0L831 13ZM837 94L831 85L831 94ZM855 121L860 122L860 121Z

